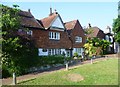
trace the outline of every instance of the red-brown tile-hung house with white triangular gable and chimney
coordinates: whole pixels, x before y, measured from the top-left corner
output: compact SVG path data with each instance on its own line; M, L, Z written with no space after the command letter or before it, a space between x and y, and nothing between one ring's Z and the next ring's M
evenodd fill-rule
M58 12L52 12L41 20L42 29L34 29L33 37L38 47L39 56L61 55L70 56L71 41L68 38L66 28Z

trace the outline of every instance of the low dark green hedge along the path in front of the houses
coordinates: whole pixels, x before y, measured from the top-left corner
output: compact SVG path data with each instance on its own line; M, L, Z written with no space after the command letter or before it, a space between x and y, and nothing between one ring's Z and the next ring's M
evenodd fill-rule
M64 57L62 55L55 55L55 56L37 56L35 58L35 65L33 67L45 67L45 66L55 66L57 64L64 64L65 62L70 61L72 58L70 57ZM27 60L28 62L33 61L33 60ZM24 62L24 61L23 61ZM33 61L34 62L34 61ZM30 66L30 64L28 65ZM16 75L24 75L29 72L30 68L26 68L26 64L23 63L22 66L16 66ZM31 67L32 68L32 67ZM11 67L6 67L2 66L2 78L10 77L12 76L12 68Z

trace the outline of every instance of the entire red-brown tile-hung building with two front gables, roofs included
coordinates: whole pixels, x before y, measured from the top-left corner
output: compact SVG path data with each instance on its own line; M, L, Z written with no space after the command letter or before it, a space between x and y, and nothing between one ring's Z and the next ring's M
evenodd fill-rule
M24 32L19 29L21 35L28 34L38 48L39 56L61 55L73 56L83 52L85 43L84 31L78 20L63 23L57 12L50 12L49 16L36 20L30 10L21 11L21 25L30 30Z

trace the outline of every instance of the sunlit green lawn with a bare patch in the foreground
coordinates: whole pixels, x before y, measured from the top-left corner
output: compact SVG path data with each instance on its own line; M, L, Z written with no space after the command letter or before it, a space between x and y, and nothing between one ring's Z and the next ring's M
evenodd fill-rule
M77 74L84 80L74 82L68 77ZM73 77L74 78L74 77ZM19 83L20 85L117 85L118 84L118 59L112 58L84 64L69 71L61 70L50 74L38 76L35 79Z

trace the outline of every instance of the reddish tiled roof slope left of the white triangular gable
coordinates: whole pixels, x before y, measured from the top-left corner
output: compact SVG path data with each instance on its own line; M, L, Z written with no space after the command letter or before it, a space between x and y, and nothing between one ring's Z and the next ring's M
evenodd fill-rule
M48 29L48 28L51 26L52 22L55 20L55 18L56 18L58 15L59 15L59 14L57 14L57 13L52 13L52 14L49 15L48 17L41 19L41 20L40 20L41 25L42 25L44 28Z

